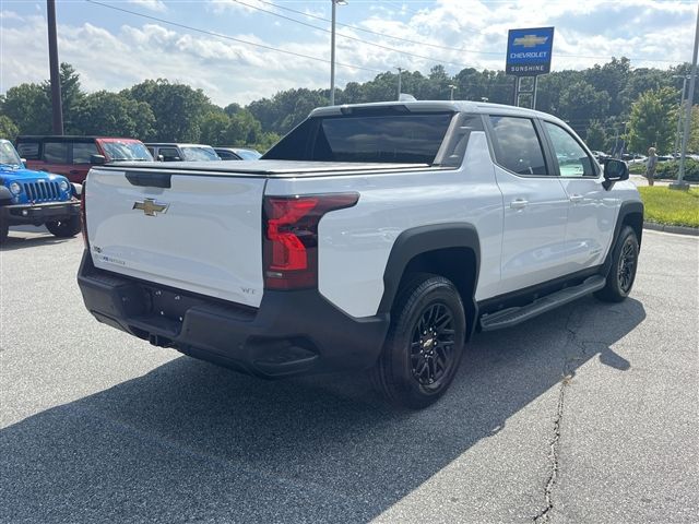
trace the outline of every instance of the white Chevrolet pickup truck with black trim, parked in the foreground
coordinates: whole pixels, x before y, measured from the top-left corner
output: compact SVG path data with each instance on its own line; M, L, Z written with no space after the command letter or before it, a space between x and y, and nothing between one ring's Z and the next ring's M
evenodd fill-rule
M476 331L623 300L643 205L559 119L472 102L316 109L260 160L115 164L83 191L100 322L264 378L445 393Z

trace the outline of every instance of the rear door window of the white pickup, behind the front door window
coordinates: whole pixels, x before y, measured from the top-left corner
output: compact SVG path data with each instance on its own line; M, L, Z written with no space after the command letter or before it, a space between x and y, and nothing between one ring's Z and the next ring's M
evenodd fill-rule
M529 118L491 116L495 159L518 175L548 175L544 151Z

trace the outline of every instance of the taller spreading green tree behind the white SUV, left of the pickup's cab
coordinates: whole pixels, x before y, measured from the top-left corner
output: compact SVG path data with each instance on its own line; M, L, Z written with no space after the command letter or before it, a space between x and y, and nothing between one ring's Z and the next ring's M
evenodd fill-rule
M211 104L201 90L170 83L168 80L146 80L128 90L128 95L151 106L155 131L146 140L163 142L198 142L201 121Z

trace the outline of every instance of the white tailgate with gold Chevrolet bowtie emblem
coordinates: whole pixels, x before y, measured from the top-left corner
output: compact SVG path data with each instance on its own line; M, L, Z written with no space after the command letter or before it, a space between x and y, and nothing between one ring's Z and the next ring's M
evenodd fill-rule
M131 180L138 176L128 172ZM259 307L264 178L158 176L170 187L92 169L85 206L95 266Z

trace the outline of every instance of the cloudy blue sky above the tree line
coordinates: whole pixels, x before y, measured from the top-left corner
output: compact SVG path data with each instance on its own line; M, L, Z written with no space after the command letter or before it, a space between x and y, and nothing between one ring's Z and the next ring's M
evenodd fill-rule
M335 85L396 68L505 69L511 28L554 26L552 69L612 57L690 62L697 0L346 0L336 7ZM87 92L146 79L248 104L330 86L331 0L57 0L59 60ZM49 76L46 2L0 0L0 93Z

